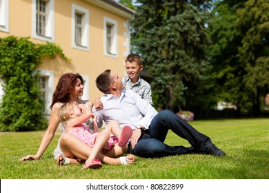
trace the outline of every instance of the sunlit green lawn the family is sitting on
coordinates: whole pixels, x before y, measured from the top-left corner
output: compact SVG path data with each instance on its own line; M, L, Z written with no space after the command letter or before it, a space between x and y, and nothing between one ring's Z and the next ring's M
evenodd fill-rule
M269 179L269 119L192 121L226 152L216 157L205 154L168 156L161 159L137 157L135 165L103 165L101 170L81 170L81 165L58 166L52 152L57 134L41 159L20 162L35 154L43 131L0 134L0 179ZM169 132L168 145L186 145Z

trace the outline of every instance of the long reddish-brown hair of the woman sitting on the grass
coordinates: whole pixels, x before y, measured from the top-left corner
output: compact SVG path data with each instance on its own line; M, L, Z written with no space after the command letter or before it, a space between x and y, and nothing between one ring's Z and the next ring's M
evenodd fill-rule
M66 73L59 79L56 89L53 92L52 103L50 109L52 109L54 103L68 103L70 101L70 91L74 90L77 79L81 80L83 85L83 78L79 74Z

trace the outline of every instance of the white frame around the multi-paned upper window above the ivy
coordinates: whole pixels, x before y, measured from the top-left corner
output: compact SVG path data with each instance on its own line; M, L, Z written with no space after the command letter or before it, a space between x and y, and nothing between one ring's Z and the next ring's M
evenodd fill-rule
M32 38L54 42L54 0L46 0L45 35L37 33L37 0L32 0Z

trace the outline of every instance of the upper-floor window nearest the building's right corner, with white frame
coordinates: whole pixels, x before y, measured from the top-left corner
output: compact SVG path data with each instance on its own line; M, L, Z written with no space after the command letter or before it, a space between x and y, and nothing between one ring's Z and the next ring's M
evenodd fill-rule
M104 54L109 57L118 57L117 45L117 21L104 18Z

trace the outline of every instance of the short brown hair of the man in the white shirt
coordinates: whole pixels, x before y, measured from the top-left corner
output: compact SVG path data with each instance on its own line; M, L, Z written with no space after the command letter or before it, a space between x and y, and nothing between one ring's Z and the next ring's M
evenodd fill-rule
M111 70L105 70L95 80L97 88L103 92L103 94L110 93L110 84L113 83L113 80L110 76Z

